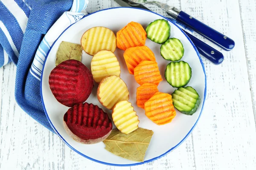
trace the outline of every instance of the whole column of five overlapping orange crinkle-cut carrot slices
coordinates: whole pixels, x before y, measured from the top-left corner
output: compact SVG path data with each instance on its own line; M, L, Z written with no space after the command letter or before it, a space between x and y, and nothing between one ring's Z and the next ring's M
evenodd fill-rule
M157 125L164 125L176 116L172 95L158 91L163 80L150 48L145 46L147 33L140 23L131 22L116 34L117 48L125 51L124 59L130 74L140 86L137 88L137 106Z

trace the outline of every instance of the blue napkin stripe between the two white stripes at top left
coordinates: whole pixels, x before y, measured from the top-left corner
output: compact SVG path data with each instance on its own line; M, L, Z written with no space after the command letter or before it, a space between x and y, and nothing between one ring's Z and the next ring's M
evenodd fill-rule
M23 32L20 28L19 23L17 22L16 18L13 14L6 8L5 5L0 1L0 20L6 26L9 34L12 37L12 41L20 52L20 46L23 39Z

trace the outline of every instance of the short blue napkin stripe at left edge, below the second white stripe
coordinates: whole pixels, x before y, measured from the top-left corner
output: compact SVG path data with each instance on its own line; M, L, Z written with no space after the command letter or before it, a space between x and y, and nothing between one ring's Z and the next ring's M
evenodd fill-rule
M9 44L9 41L6 37L6 35L3 33L3 31L0 29L0 45L3 46L3 49L6 51L8 56L12 59L12 61L17 64L18 58L15 55L14 51L12 50L11 45Z

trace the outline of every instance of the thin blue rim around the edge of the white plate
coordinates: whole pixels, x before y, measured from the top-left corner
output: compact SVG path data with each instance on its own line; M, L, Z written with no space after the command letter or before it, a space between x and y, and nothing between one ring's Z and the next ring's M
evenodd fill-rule
M132 8L132 9L137 9L137 10L148 11L148 10L146 10L146 9L133 8L133 7L114 7L114 8L102 9L102 10L100 10L100 11L111 10L111 9L115 9L115 8ZM97 13L97 12L100 12L100 11L96 11L96 12L90 13L90 14L84 16L83 18L81 18L81 20L84 19L85 17L89 16L89 15L92 15L92 14ZM153 13L153 14L157 14L157 13L155 13L155 12L153 12L153 11L148 11L148 12L151 12L151 13ZM172 22L171 20L169 20L168 18L166 18L166 17L164 17L164 16L162 16L162 15L160 15L160 14L157 14L157 15L159 15L160 17L163 17L163 18L165 18L166 20L168 20L168 21L170 21L171 23L173 23L173 22ZM73 23L73 24L75 24L75 23ZM73 24L71 24L70 26L73 26ZM175 26L177 26L176 23L173 23L173 24L174 24ZM68 27L60 34L59 37L61 37L61 35L62 35L68 28L70 28L70 26L68 26ZM46 56L46 58L45 58L45 61L44 61L44 65L43 65L43 69L42 69L42 75L41 75L41 82L40 82L40 93L41 93L42 104L43 104L43 107L44 107L44 112L45 112L45 115L46 115L46 117L47 117L47 119L48 119L50 125L51 125L52 128L55 130L55 133L57 133L57 135L63 140L63 142L64 142L65 144L67 144L68 147L70 147L72 150L74 150L74 151L75 151L76 153L78 153L79 155L81 155L81 156L83 156L83 157L85 157L85 158L87 158L87 159L90 159L90 160L92 160L92 161L95 161L95 162L98 162L98 163L101 163L101 164L111 165L111 166L127 167L127 166L141 165L141 164L145 164L145 163L148 163L148 162L151 162L151 161L160 159L160 158L162 158L163 156L166 156L166 155L167 155L168 153L170 153L171 151L175 150L177 147L180 146L180 144L182 144L182 143L187 139L187 137L190 135L190 133L194 130L195 126L197 125L198 120L200 119L201 114L202 114L202 111L203 111L203 109L204 109L204 102L205 102L206 93L207 93L207 79L206 79L206 72L205 72L205 68L204 68L204 63L203 63L203 60L202 60L201 57L200 57L200 54L199 54L197 48L195 47L195 45L194 45L194 43L192 42L192 40L190 40L190 38L186 35L186 33L185 33L179 26L177 26L177 28L180 29L180 31L187 37L187 39L189 40L189 42L190 42L190 43L192 44L192 46L194 47L196 53L198 54L198 58L199 58L199 60L200 60L200 62L201 62L201 65L202 65L202 68L203 68L203 71L204 71L205 88L204 88L204 101L203 101L202 109L201 109L200 115L198 116L197 121L195 122L195 125L192 127L191 130L189 130L189 133L188 133L175 147L172 147L172 148L169 149L166 153L163 153L163 154L160 155L160 156L157 156L157 157L155 157L155 158L149 159L149 160L147 160L147 161L138 162L138 163L134 163L134 164L111 164L111 163L107 163L107 162L103 162L103 161L98 161L98 160L96 160L96 159L90 158L89 156L84 155L83 153L79 152L78 150L76 150L75 148L73 148L72 146L70 146L70 144L67 143L67 141L58 133L58 131L56 130L56 128L52 125L52 122L51 122L51 120L49 119L48 113L47 113L47 111L46 111L46 109L45 109L45 105L44 105L44 99L43 99L43 94L42 94L42 77L43 77L43 74L44 74L44 65L45 65L45 63L46 63L46 59L47 59L47 57L48 57L48 54L49 54L49 52L51 51L51 49L52 49L53 45L55 44L55 42L59 39L59 37L53 42L52 46L50 47L50 49L49 49L49 51L48 51L48 53L47 53L47 56Z

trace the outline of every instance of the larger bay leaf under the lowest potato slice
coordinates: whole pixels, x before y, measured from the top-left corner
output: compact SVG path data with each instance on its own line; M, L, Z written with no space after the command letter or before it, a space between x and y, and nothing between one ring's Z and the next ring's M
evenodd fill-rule
M152 130L141 127L128 134L115 129L103 142L109 152L131 161L141 162L144 161L153 133Z

